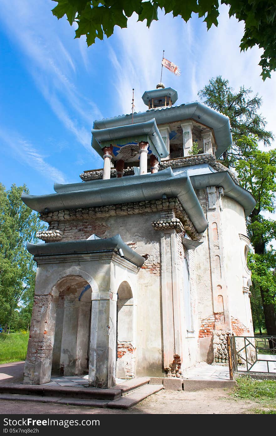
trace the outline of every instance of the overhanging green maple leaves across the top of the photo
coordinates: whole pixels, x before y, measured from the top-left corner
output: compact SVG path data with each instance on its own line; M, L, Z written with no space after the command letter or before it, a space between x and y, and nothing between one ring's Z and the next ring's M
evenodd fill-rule
M153 20L158 20L158 8L164 8L165 14L180 15L184 21L191 18L191 14L204 17L207 30L212 24L218 25L218 0L53 0L58 3L52 10L59 19L64 15L78 28L75 37L86 35L87 45L95 42L96 38L109 37L114 27L127 27L127 18L134 12L138 14L138 21L147 20L147 26ZM262 67L262 78L270 77L270 72L276 70L276 8L274 0L221 0L221 4L229 6L229 17L236 17L245 24L244 35L240 49L245 51L255 45L263 48L259 65Z

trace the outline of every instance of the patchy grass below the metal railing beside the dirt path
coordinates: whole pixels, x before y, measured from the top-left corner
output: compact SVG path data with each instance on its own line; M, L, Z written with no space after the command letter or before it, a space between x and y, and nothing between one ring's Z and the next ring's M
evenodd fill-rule
M258 401L262 409L256 409L255 413L276 414L276 380L239 377L232 395L236 398Z

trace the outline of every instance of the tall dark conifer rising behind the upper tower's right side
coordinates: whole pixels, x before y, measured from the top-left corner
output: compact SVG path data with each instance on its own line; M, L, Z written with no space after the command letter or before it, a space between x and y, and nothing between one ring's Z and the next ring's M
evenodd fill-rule
M259 114L262 99L258 94L252 97L251 89L240 86L235 92L227 79L218 76L211 78L198 95L207 106L229 117L233 143L223 155L227 167L235 166L236 160L243 159L245 144L238 142L241 136L257 136L264 145L270 145L273 134L265 129L266 120Z

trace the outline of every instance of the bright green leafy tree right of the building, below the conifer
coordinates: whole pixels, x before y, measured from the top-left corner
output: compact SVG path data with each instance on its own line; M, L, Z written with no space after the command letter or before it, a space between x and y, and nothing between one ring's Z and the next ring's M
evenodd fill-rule
M276 253L269 243L276 238L276 221L264 212L275 212L276 150L261 151L256 137L242 136L237 145L243 159L235 166L240 183L256 199L248 217L247 231L254 247L249 267L253 282L259 286L268 335L276 336Z

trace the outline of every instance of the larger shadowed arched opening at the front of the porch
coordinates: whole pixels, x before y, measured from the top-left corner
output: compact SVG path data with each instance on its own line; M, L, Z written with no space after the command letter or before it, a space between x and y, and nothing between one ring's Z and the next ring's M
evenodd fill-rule
M91 325L89 283L79 276L66 276L53 291L58 293L52 374L88 373Z

